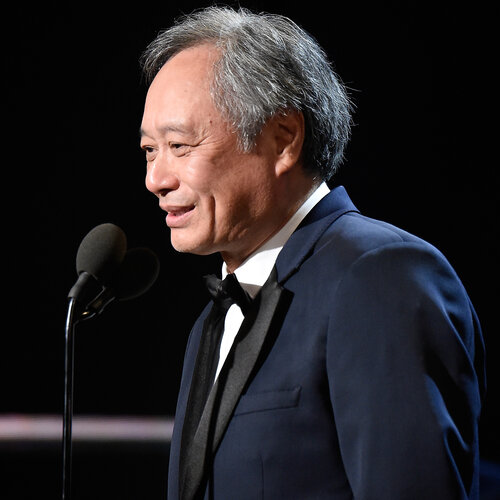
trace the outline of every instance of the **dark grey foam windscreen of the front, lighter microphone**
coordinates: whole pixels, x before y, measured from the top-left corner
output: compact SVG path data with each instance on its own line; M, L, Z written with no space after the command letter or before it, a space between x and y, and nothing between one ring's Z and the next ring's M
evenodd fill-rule
M76 271L86 271L105 281L122 263L127 251L127 237L118 226L105 223L92 229L83 238L76 255Z

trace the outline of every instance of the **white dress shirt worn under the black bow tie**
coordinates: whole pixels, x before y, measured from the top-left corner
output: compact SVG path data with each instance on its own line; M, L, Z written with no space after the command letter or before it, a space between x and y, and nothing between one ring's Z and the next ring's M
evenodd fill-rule
M288 238L295 231L297 226L302 222L305 216L312 208L328 193L330 189L326 183L322 183L302 206L295 212L290 220L266 243L252 253L235 271L234 274L238 278L241 286L247 293L254 298L262 285L266 282L273 266L278 258L278 254L287 242ZM227 267L222 265L222 279L227 276ZM219 351L219 364L215 378L219 375L220 369L226 360L226 357L233 345L233 341L240 329L244 316L238 305L233 304L227 311L224 321L224 333Z

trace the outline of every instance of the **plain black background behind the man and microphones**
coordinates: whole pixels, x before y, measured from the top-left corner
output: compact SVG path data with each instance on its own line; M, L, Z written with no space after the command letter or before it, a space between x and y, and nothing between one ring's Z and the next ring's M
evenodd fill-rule
M220 260L174 252L144 187L138 58L175 17L209 3L23 3L4 17L0 416L62 413L66 295L81 239L103 222L122 227L129 247L152 248L161 274L146 295L79 325L75 414L173 416L187 336L207 301L201 276ZM488 350L482 457L500 462L498 167L485 154L491 89L477 36L490 14L417 1L242 5L315 35L349 87L356 126L335 182L366 215L436 245L462 278ZM0 451L0 497L59 497L59 449ZM75 449L75 498L163 498L167 451Z

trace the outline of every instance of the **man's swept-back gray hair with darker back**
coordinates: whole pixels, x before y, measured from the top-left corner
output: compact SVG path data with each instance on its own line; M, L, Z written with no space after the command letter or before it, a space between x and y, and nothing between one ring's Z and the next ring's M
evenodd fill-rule
M343 160L351 103L318 43L290 19L247 9L208 7L178 19L141 57L151 82L178 52L213 43L215 106L250 151L265 123L290 110L304 115L304 169L328 180Z

